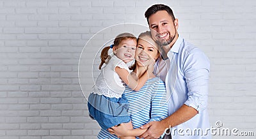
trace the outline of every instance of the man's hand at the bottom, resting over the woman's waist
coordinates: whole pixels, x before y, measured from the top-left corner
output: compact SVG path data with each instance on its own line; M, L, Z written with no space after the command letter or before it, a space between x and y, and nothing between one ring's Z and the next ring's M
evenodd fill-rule
M164 133L165 126L162 124L163 121L153 121L149 122L148 124L145 124L144 126L141 126L141 129L147 129L148 130L143 133L143 135L140 136L140 138L159 138Z

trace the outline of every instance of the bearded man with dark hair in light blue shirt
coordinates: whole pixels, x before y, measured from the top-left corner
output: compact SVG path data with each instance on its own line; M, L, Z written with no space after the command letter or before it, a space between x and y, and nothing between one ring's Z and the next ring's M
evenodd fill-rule
M209 59L197 47L181 38L178 19L169 6L155 4L145 12L152 38L161 45L162 57L155 73L165 81L168 117L141 126L148 130L141 138L211 138L207 113ZM164 68L166 67L166 68Z

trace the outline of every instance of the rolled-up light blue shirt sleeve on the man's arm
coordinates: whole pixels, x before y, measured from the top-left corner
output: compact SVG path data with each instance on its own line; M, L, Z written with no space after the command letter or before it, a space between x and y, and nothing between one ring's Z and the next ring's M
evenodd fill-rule
M184 62L184 78L188 87L185 105L195 108L198 113L207 108L210 63L200 50L188 52Z

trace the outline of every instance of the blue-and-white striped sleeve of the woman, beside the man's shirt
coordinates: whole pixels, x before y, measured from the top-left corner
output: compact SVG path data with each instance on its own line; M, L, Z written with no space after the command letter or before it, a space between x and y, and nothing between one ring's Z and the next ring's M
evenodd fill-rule
M152 91L150 121L161 121L167 116L168 105L166 101L166 89L163 81L159 79L159 82L154 85L154 91Z

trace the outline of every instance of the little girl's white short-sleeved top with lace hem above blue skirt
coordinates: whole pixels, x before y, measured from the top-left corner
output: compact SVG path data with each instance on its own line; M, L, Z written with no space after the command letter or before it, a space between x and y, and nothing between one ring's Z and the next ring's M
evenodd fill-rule
M100 75L93 86L93 93L109 98L121 98L125 90L125 83L115 72L116 66L126 69L129 73L131 72L124 61L113 55L108 64L105 64L104 67L102 66Z

